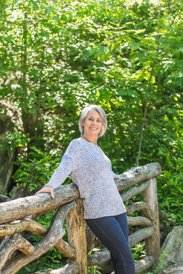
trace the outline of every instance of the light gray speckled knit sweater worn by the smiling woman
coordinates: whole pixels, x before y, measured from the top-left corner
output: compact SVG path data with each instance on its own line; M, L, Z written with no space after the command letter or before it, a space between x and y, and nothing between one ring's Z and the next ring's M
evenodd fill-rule
M111 169L111 161L99 146L73 139L61 162L44 185L57 188L70 174L83 199L84 218L95 219L126 212Z

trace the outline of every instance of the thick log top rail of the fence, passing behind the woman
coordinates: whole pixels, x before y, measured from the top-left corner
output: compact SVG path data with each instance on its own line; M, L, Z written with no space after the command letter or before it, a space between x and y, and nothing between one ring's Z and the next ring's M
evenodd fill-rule
M121 174L121 180L115 180L119 191L134 184L159 176L162 172L159 163L150 163L141 167L132 167ZM79 190L75 184L61 185L54 190L55 199L50 198L49 193L19 198L0 204L0 224L21 219L27 215L36 215L39 212L51 210L54 207L65 204L79 198Z

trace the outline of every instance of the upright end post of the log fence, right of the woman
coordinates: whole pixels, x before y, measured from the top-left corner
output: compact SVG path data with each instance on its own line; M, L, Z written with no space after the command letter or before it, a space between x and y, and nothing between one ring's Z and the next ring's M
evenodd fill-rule
M151 183L149 187L143 191L143 199L152 212L153 228L155 233L152 237L146 239L146 252L148 256L154 257L155 264L157 264L160 257L160 221L158 211L157 181L156 178L152 178L150 180Z

